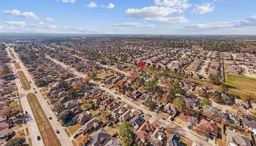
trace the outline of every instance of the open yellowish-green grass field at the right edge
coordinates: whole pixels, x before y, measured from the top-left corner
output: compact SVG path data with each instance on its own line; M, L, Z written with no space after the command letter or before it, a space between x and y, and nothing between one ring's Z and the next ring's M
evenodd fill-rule
M230 86L230 93L236 95L241 95L242 93L256 94L255 78L226 74L226 84Z

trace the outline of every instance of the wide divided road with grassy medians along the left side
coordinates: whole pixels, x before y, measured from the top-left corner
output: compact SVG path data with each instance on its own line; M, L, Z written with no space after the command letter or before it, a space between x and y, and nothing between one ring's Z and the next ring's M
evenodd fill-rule
M37 97L37 100L38 100L39 103L41 104L41 107L42 107L42 109L44 110L46 117L48 117L48 116L51 116L51 117L52 117L51 120L49 120L49 119L48 119L48 120L50 121L50 124L51 124L51 126L52 126L54 132L55 132L56 129L58 129L58 130L60 131L60 133L59 133L59 134L56 134L56 135L57 135L57 137L58 137L58 139L59 139L61 145L73 145L73 143L69 140L68 135L67 135L66 132L65 132L65 128L60 125L59 121L57 121L57 117L54 115L54 112L51 110L50 106L47 104L46 100L44 99L43 95L41 94L40 90L41 90L42 88L39 88L39 87L37 87L37 86L35 85L35 82L34 82L34 80L31 78L31 76L29 75L29 73L28 73L26 67L23 65L23 63L22 63L22 62L20 61L20 59L18 58L17 53L15 53L12 48L10 48L10 49L12 50L13 54L14 54L14 55L16 56L16 58L17 58L17 59L14 59L14 60L15 60L16 62L19 62L19 64L20 64L20 67L21 67L20 70L22 70L22 71L24 72L24 74L25 74L27 80L31 82L31 84L30 84L30 86L31 86L30 90L25 91L25 90L23 90L23 88L22 88L22 89L20 88L20 87L22 87L22 85L21 85L21 83L19 83L19 79L17 80L17 82L16 82L16 80L15 80L15 82L17 83L18 89L19 89L19 90L22 90L22 91L19 91L19 94L20 94L21 104L22 104L23 110L27 110L28 113L32 115L32 112L31 112L31 109L30 109L30 106L29 106L29 103L28 103L28 101L27 101L26 96L27 96L28 93L34 93L34 94L36 95L36 97ZM10 55L10 52L9 52L9 55ZM13 69L15 69L14 64L13 64L13 63L11 63L11 64L12 64ZM16 73L17 73L17 70L14 70L13 72L14 72L14 74L16 74ZM35 88L35 90L33 90L33 88ZM36 91L37 93L35 93L35 91ZM22 93L23 93L23 95L21 95ZM24 98L24 97L25 97L25 98ZM28 108L28 109L27 109L27 108ZM40 141L37 141L37 140L36 140L36 136L37 136L37 135L40 135L40 134L39 134L39 130L38 130L38 127L37 127L37 125L36 125L36 121L35 121L34 116L33 116L33 123L31 124L32 127L30 126L30 123L28 123L28 124L29 124L28 127L29 127L29 129L30 129L30 131L31 131L31 132L29 131L29 134L31 134L30 137L35 138L33 145L44 145L42 139L41 139ZM35 126L33 127L33 124L36 125L36 127L35 127ZM35 131L35 132L34 132L34 131ZM35 134L36 136L35 136L35 135L32 136L32 134ZM41 138L42 138L42 137L41 137ZM36 141L37 143L36 143L35 141ZM39 143L38 143L38 142L39 142Z

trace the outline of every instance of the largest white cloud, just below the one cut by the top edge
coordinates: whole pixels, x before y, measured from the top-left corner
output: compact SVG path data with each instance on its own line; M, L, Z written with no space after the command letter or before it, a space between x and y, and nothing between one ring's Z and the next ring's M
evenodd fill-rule
M142 9L127 9L125 14L129 17L139 18L148 22L155 23L186 23L188 20L185 17L167 17L172 13L179 13L179 9L173 9L171 7L158 7L149 6Z

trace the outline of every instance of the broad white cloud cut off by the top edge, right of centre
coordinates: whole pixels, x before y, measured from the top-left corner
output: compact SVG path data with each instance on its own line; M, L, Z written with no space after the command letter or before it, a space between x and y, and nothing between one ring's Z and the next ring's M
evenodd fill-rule
M188 0L155 0L155 4L167 7L178 7L180 9L187 9L191 6Z

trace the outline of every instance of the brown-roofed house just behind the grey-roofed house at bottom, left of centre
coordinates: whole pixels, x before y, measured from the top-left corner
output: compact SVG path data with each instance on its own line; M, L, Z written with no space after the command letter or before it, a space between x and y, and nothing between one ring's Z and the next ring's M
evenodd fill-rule
M87 121L84 125L82 125L82 133L90 133L94 129L98 128L102 121L98 117L94 117L91 120Z

